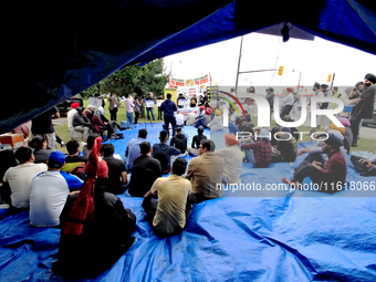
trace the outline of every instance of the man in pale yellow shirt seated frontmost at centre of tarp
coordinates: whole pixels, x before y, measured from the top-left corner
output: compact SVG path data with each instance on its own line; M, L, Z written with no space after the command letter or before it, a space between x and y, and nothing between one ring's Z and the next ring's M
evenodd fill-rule
M178 234L187 224L192 202L189 199L191 184L181 177L186 168L187 160L177 158L173 164L173 174L157 178L144 196L146 220L159 237ZM158 197L158 201L153 197Z

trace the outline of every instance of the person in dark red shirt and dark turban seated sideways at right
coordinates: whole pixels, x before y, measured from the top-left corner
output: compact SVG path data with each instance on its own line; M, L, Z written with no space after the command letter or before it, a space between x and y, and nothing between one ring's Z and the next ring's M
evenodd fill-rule
M327 139L323 143L323 152L328 159L325 164L321 161L303 160L295 169L293 179L282 178L285 184L301 187L305 177L316 184L321 191L333 194L341 188L346 181L347 166L343 155L340 152L342 142L334 135L328 134Z

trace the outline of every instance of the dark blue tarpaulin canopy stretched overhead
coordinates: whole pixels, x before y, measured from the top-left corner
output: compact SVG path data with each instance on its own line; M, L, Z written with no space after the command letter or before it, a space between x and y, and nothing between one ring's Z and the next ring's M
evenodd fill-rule
M318 0L304 6L297 0L22 3L22 8L10 9L13 28L7 41L11 45L7 55L12 59L8 72L13 70L18 100L0 112L0 133L9 132L124 65L148 62L281 22L376 54L375 6L374 1L365 0Z

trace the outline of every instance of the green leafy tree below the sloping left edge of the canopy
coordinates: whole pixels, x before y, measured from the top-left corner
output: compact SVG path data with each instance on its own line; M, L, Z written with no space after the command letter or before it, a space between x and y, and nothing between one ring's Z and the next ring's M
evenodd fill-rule
M82 95L88 97L98 92L101 94L115 92L117 96L125 96L128 93L143 96L153 92L156 96L163 94L168 81L168 75L164 74L164 70L163 59L154 60L142 66L128 65L85 90Z

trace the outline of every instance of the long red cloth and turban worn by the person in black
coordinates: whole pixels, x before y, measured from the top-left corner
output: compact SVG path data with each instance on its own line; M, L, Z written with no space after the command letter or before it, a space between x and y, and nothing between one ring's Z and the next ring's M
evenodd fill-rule
M100 161L98 155L102 138L97 137L90 152L86 163L86 179L81 191L74 201L69 219L65 224L64 234L79 236L82 233L85 221L93 222L94 215L94 188L96 178L105 178L108 175L108 167L105 160Z

